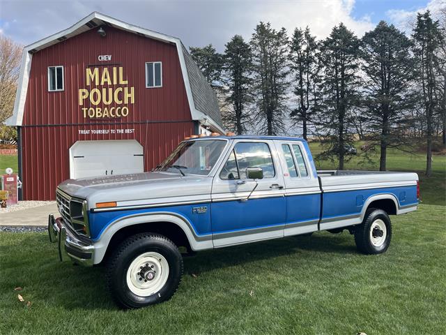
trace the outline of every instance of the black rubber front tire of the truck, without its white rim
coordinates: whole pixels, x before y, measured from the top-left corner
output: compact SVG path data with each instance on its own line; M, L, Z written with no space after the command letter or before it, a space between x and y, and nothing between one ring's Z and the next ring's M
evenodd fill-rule
M128 269L144 253L162 255L169 265L167 282L152 295L136 295L128 286ZM128 237L116 248L107 262L107 284L112 299L122 308L140 308L166 301L174 295L183 275L183 258L177 246L160 234L141 233Z

